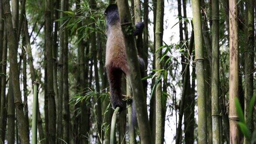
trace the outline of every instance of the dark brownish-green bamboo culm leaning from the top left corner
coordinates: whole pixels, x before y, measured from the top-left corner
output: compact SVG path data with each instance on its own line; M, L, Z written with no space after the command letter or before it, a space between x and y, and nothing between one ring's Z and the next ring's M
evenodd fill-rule
M10 84L12 85L13 96L15 101L15 109L16 109L16 117L19 124L19 134L20 134L20 141L22 144L28 144L29 143L29 132L28 132L28 125L25 121L24 116L24 109L23 104L21 100L21 92L20 92L20 79L19 79L19 67L17 63L17 40L16 40L16 32L14 30L14 26L12 24L12 14L11 14L11 8L9 0L1 0L3 2L4 6L4 20L6 26L6 32L8 37L8 48L9 48L9 60L10 60ZM18 11L18 9L16 9ZM14 11L14 10L13 10ZM9 93L11 94L11 93ZM13 96L10 96L13 98ZM14 104L14 101L12 103L12 107ZM9 109L10 107L8 107ZM12 109L13 110L13 109ZM14 112L12 112L12 115L9 115L8 117L14 118ZM13 124L13 123L12 123ZM8 127L10 128L10 127ZM13 134L14 132L10 133ZM8 134L9 136L9 134ZM9 139L10 140L10 139ZM13 140L13 138L12 138Z

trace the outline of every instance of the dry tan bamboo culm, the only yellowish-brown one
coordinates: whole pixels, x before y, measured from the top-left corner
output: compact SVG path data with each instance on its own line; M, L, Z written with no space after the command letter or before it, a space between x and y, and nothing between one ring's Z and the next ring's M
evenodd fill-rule
M237 0L229 0L229 138L230 144L239 144L235 98L238 97L239 48L237 27Z

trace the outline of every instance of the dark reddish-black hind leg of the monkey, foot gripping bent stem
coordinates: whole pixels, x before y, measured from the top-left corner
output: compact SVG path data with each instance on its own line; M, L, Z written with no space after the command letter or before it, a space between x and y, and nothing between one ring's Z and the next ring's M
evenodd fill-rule
M110 85L110 98L113 108L125 108L125 101L121 95L121 77L123 71L118 68L108 68L108 81Z

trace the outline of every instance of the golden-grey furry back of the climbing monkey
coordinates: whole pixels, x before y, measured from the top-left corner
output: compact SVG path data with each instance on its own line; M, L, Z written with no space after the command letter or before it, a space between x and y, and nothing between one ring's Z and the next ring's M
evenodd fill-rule
M106 67L121 68L127 65L124 36L120 23L108 28L106 44Z

